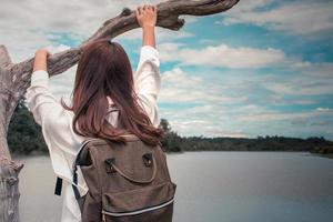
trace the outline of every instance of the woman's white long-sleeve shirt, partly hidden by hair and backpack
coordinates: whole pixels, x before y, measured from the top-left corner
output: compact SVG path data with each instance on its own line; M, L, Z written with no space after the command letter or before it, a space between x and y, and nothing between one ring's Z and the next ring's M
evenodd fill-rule
M147 112L154 127L160 123L158 113L158 93L160 91L160 60L155 48L143 46L137 71L133 72L134 89L139 103ZM49 89L49 73L37 70L32 73L31 85L27 89L28 110L34 121L41 125L44 141L48 145L54 173L63 179L63 208L61 222L80 222L81 212L72 190L72 163L84 137L74 133L72 129L73 112L62 108L60 101ZM108 97L109 103L113 103ZM110 112L107 117L112 125L117 125L119 112ZM80 193L88 191L87 184L79 174Z

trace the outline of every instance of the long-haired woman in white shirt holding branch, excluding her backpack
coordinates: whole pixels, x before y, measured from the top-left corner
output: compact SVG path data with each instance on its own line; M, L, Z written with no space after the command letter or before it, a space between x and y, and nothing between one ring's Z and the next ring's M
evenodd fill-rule
M135 14L143 33L135 73L119 43L107 39L90 43L78 63L71 107L62 100L59 103L49 90L50 53L46 49L36 52L27 102L42 127L53 170L64 181L62 222L81 221L71 188L71 167L85 137L123 141L121 135L127 130L149 144L158 144L162 137L157 104L160 90L154 36L157 7L144 4ZM82 176L78 186L82 194L88 190Z

